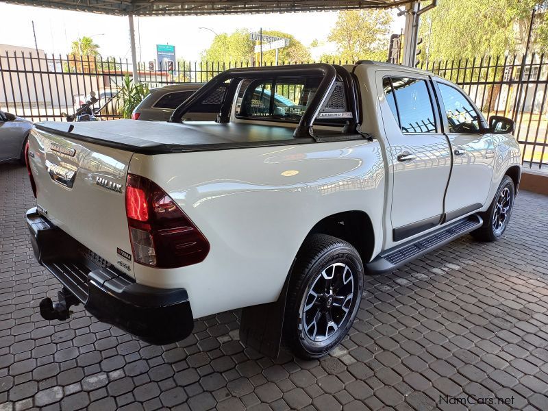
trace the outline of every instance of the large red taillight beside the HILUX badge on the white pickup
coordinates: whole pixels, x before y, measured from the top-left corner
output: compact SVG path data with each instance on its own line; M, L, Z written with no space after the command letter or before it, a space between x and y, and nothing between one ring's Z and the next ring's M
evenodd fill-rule
M151 180L128 174L125 212L135 261L173 269L203 261L206 237L167 193Z

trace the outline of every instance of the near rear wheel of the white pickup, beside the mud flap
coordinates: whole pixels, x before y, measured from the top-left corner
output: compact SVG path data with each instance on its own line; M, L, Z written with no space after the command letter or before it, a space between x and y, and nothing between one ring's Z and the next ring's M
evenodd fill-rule
M363 275L360 254L348 242L325 234L306 239L291 273L284 321L296 356L323 357L345 338L360 307Z

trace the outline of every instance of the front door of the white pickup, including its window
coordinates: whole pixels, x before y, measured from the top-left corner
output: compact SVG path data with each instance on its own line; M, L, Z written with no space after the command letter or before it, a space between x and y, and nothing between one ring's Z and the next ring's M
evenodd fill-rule
M482 114L457 86L436 81L453 170L445 195L445 221L482 208L493 179L493 136Z

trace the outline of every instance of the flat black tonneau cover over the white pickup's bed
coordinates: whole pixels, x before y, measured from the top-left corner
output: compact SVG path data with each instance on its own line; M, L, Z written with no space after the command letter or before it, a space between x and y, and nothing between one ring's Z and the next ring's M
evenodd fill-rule
M314 142L313 138L294 137L295 126L284 127L247 123L223 124L208 121L186 123L127 119L82 123L42 121L36 123L36 128L74 140L145 154ZM314 134L319 140L327 141L363 138L360 134L347 135L321 129L315 129Z

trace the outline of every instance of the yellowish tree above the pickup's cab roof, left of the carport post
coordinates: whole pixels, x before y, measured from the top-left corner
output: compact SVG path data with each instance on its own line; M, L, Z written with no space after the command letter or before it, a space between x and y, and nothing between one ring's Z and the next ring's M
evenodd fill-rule
M347 10L339 12L327 40L336 42L336 55L321 60L356 62L362 59L386 61L392 15L387 10Z

